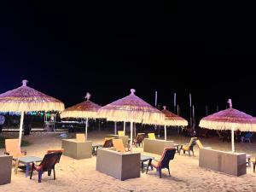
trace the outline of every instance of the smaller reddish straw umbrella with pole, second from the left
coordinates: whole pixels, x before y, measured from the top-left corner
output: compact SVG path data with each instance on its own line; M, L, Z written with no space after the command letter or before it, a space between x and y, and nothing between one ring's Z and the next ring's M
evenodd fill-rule
M97 105L94 102L90 102L90 93L87 93L85 96L87 99L85 102L81 102L73 107L66 108L61 112L61 118L83 118L86 119L85 123L85 137L87 139L87 127L88 119L98 118L98 110L101 106Z

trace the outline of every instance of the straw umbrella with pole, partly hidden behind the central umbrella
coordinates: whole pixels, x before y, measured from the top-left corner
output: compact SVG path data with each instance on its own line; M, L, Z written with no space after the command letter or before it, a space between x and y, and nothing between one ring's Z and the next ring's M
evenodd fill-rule
M165 140L166 140L166 126L187 126L188 121L183 119L182 117L178 116L175 113L172 113L166 109L166 106L163 107L164 109L161 110L162 113L165 114Z

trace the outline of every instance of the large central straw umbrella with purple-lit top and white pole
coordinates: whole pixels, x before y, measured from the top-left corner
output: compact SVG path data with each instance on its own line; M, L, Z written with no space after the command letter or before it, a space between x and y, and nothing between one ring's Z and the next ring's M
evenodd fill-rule
M99 116L110 121L125 121L131 123L131 148L133 123L160 125L165 120L165 115L157 108L152 107L135 96L135 90L131 94L99 109Z

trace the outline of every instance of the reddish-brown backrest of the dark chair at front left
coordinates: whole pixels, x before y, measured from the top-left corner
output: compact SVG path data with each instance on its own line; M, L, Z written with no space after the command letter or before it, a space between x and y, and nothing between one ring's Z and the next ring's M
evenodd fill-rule
M52 169L55 166L55 164L58 162L58 160L60 160L61 154L62 154L61 152L53 152L53 153L45 154L44 159L39 165L40 167L42 167L43 172L47 172L50 169Z

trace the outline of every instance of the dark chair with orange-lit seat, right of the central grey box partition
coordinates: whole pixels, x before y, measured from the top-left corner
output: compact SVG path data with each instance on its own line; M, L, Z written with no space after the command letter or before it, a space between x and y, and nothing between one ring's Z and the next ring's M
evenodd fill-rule
M148 167L154 166L157 172L159 172L159 177L162 177L161 170L164 168L168 169L169 175L171 176L169 162L173 160L175 152L176 148L165 148L160 160L149 160L146 174L148 173Z

